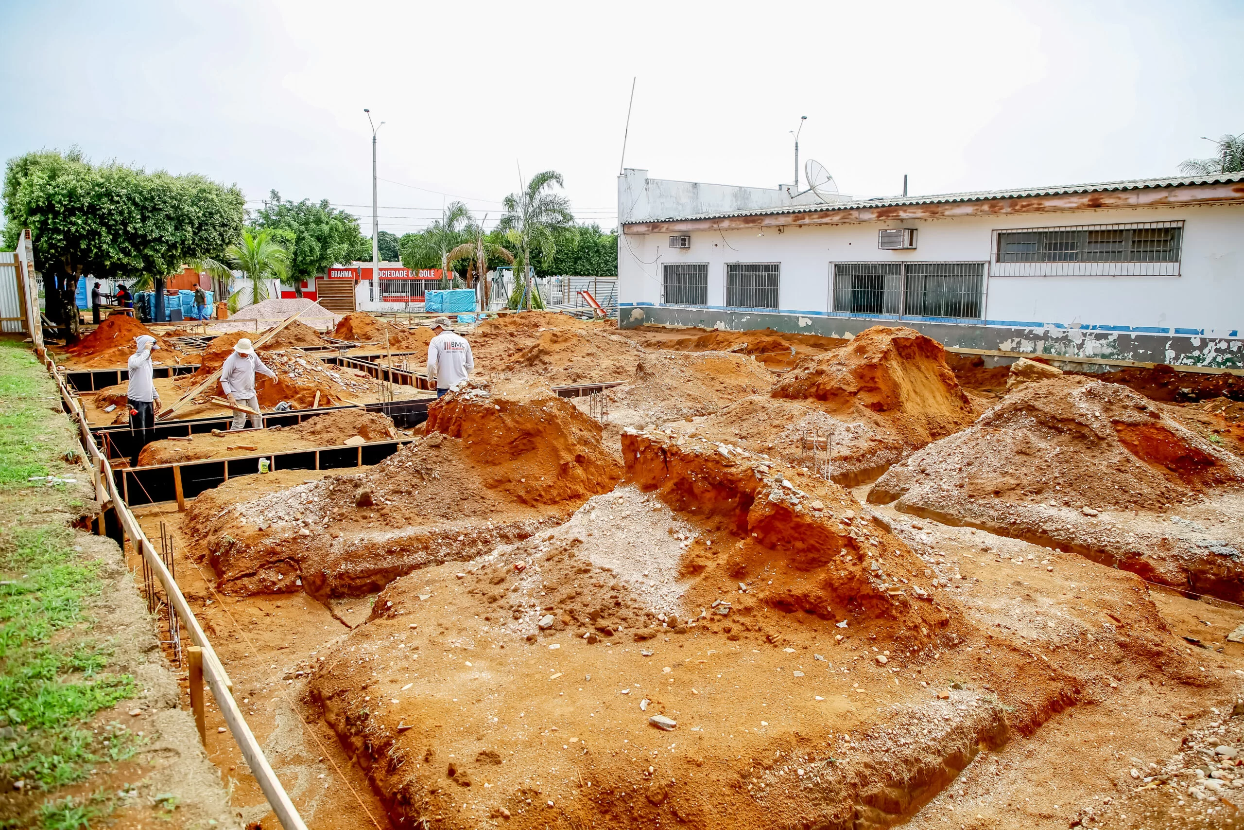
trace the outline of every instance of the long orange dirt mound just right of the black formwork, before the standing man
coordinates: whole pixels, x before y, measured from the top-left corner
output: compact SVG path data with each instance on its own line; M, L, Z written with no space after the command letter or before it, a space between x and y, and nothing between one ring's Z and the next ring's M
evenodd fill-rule
M547 389L447 396L427 429L362 473L258 499L234 482L200 495L198 555L229 591L362 594L556 524L622 472L600 426Z

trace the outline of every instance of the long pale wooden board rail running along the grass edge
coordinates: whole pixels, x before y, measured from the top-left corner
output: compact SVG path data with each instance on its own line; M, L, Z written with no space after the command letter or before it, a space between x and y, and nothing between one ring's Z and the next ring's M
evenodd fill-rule
M56 380L56 386L60 388L61 401L65 404L65 408L68 411L73 421L77 422L78 429L81 431L81 443L83 449L87 452L87 457L91 459L91 478L95 483L96 499L102 505L101 509L104 510L111 506L117 514L117 519L123 533L129 536L134 549L142 554L147 566L152 570L152 572L154 572L156 579L158 579L160 585L164 587L164 594L168 596L169 604L182 617L182 622L185 625L185 628L190 635L190 641L203 650L203 677L208 682L209 688L211 688L211 694L216 699L216 707L220 709L220 714L224 718L225 724L229 727L229 732L238 743L238 748L241 750L243 758L245 758L246 763L250 765L250 772L255 776L255 781L267 798L267 803L271 805L276 819L281 823L281 826L285 828L285 830L307 830L306 824L302 821L302 816L300 816L299 811L294 808L294 803L290 800L290 796L281 785L281 781L276 778L276 773L272 770L271 764L267 763L267 758L264 755L262 748L260 748L254 733L246 724L246 718L243 716L241 708L238 706L238 702L234 701L233 681L229 679L229 674L225 672L224 664L216 656L215 648L211 647L211 641L209 641L208 636L203 632L203 627L194 616L194 611L190 609L189 602L185 601L185 596L182 594L182 589L178 587L177 580L173 579L173 575L169 574L168 569L164 566L164 561L159 557L159 554L156 551L151 540L147 539L147 535L143 533L142 526L139 526L138 520L134 519L134 515L129 511L122 494L118 492L117 483L113 478L112 465L100 452L100 448L91 437L91 431L86 421L86 413L65 386L63 378L57 372L56 362L49 357L46 350L44 351L42 357L49 372Z

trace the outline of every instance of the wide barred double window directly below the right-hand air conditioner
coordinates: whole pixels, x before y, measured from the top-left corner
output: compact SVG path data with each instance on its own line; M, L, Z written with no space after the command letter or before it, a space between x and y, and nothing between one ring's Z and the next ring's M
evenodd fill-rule
M833 310L964 317L984 314L984 263L835 263Z

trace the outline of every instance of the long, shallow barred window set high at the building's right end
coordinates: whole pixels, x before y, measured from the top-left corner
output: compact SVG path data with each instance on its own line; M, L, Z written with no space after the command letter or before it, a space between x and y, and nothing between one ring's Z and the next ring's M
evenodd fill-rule
M1151 221L1072 228L1033 228L994 231L993 269L999 276L1018 275L1177 275L1183 241L1182 221ZM1021 263L1062 264L1054 268L1014 268ZM1135 264L1164 264L1154 266ZM1010 266L1010 268L1008 268Z

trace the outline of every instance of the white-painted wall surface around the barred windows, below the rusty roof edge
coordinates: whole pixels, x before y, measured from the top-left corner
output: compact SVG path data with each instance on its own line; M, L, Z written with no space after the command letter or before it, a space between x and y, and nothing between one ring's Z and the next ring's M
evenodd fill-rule
M621 213L621 208L620 208ZM1183 220L1178 276L989 276L985 320L1070 326L1191 329L1244 333L1244 205L870 221L750 230L702 230L690 249L669 234L621 234L618 300L659 304L662 265L708 263L708 305L725 305L725 263L781 263L780 310L832 311L831 263L982 261L994 230ZM882 228L916 228L916 250L880 250Z

